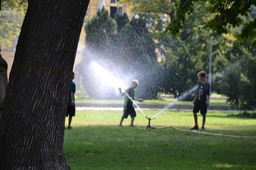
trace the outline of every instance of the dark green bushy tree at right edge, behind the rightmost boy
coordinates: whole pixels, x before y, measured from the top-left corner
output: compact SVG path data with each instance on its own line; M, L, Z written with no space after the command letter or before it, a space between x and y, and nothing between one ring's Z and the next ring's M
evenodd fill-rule
M255 110L256 87L255 50L245 47L240 48L241 59L232 63L217 75L217 92L228 96L228 102L237 109Z

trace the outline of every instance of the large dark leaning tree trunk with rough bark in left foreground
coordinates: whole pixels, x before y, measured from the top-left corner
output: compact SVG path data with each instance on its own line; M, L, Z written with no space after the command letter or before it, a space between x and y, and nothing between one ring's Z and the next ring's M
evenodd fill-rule
M0 169L69 169L68 83L89 0L29 0L0 120Z

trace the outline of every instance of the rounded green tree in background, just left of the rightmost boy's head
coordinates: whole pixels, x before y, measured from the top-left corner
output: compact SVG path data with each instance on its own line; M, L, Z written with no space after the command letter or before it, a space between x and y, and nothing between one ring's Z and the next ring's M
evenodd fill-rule
M187 81L194 79L194 74L189 73L189 70L195 63L191 61L192 57L187 44L179 37L165 36L165 39L161 39L160 42L165 47L165 61L162 64L165 78L162 92L171 93L176 97L194 82Z

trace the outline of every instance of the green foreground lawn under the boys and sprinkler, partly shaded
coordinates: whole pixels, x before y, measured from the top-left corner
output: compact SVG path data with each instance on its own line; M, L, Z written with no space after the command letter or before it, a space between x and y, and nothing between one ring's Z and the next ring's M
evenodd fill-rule
M160 110L143 109L149 117ZM64 151L72 170L256 169L256 122L208 113L206 130L191 131L191 112L165 110L145 129L137 111L136 127L117 126L122 110L77 111L65 130ZM201 122L201 116L199 116Z

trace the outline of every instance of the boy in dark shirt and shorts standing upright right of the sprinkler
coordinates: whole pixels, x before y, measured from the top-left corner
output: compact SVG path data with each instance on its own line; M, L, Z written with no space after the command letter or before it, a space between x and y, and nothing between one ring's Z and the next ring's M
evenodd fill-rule
M193 101L194 103L193 115L194 115L195 125L191 129L192 130L199 129L198 121L197 121L197 113L200 111L203 117L201 129L204 130L207 108L209 106L210 84L206 81L206 73L204 71L200 71L197 74L197 76L198 76L199 83L196 91L196 96Z

